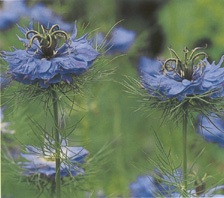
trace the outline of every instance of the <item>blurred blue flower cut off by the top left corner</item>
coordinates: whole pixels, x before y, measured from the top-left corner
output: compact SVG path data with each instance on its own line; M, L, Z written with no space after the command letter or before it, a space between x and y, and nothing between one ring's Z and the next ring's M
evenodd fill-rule
M27 11L27 6L24 0L2 2L0 9L0 30L5 30L17 23L21 16Z

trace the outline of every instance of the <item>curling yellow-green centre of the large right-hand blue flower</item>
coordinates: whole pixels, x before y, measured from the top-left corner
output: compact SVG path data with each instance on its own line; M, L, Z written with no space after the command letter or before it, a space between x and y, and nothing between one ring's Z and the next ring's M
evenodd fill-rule
M205 47L196 47L195 49L192 50L190 56L188 57L189 50L187 47L183 49L184 52L184 61L182 61L177 53L169 48L169 50L175 55L176 58L168 58L163 66L162 66L162 71L164 72L164 75L166 75L167 71L168 72L174 72L173 75L178 75L182 79L187 79L187 80L192 80L194 74L198 71L198 69L205 67L205 64L201 63L200 56L208 57L208 55L205 52L199 52L196 55L194 53L197 50L202 50L205 49ZM195 61L199 59L197 64L195 64Z

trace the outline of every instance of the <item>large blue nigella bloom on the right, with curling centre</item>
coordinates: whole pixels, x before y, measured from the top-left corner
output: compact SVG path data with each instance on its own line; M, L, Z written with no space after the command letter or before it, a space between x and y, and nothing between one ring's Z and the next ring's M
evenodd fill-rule
M166 61L142 57L139 71L148 93L160 100L177 98L180 101L200 94L208 94L209 98L224 96L224 68L221 67L224 56L217 65L210 64L206 58L197 61L199 57L207 57L204 52L194 55L201 49L195 48L188 57L189 50L185 48L184 61L173 49L170 50L175 58Z

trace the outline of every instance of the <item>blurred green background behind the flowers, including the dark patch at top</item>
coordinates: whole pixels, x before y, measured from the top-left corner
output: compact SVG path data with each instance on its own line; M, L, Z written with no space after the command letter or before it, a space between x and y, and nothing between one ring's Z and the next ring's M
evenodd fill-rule
M116 22L123 20L119 26L137 33L137 39L128 53L105 66L106 69L115 68L114 74L91 82L88 91L77 97L76 102L83 109L79 108L79 111L68 118L68 122L76 123L84 116L71 135L71 139L76 141L71 142L72 145L84 146L90 152L90 157L105 144L108 145L105 150L107 155L99 161L99 165L95 167L96 173L90 177L91 185L88 186L88 191L102 190L109 197L128 197L130 182L134 182L137 175L154 169L148 160L148 157L153 158L157 152L154 131L165 149L168 151L171 148L176 164L180 164L181 126L176 126L171 121L160 126L161 112L150 109L147 112L136 111L139 107L138 100L125 92L121 82L125 80L125 75L138 79L137 66L141 56L167 58L167 47L170 45L181 54L185 46L192 49L207 43L209 60L218 62L224 54L224 1L52 0L32 1L28 4L37 2L42 2L55 13L61 14L67 22L78 20L79 27L89 24L86 32L99 28L100 32L107 33ZM27 25L28 21L23 18L19 24ZM23 47L16 34L20 34L16 26L0 33L1 50L10 50L11 46ZM109 58L116 56L118 55ZM2 103L6 102L4 94L1 99ZM35 144L35 136L27 115L40 123L44 121L39 102L8 106L3 121L10 121L9 128L16 133L3 134L2 145L21 148L20 142ZM213 183L220 181L224 178L223 149L216 144L205 142L192 126L188 129L188 166L191 166L196 156L205 148L194 170L212 175ZM35 197L35 188L21 182L19 177L14 175L17 172L15 167L14 163L3 159L2 194L16 198ZM81 194L74 192L77 193L75 189L71 190L68 196L86 196L81 190Z

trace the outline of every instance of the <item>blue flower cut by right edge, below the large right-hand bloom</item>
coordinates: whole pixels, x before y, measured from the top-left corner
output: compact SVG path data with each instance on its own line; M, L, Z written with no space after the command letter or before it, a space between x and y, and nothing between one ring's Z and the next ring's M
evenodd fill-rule
M224 120L211 114L209 118L199 116L198 133L208 142L224 147Z

